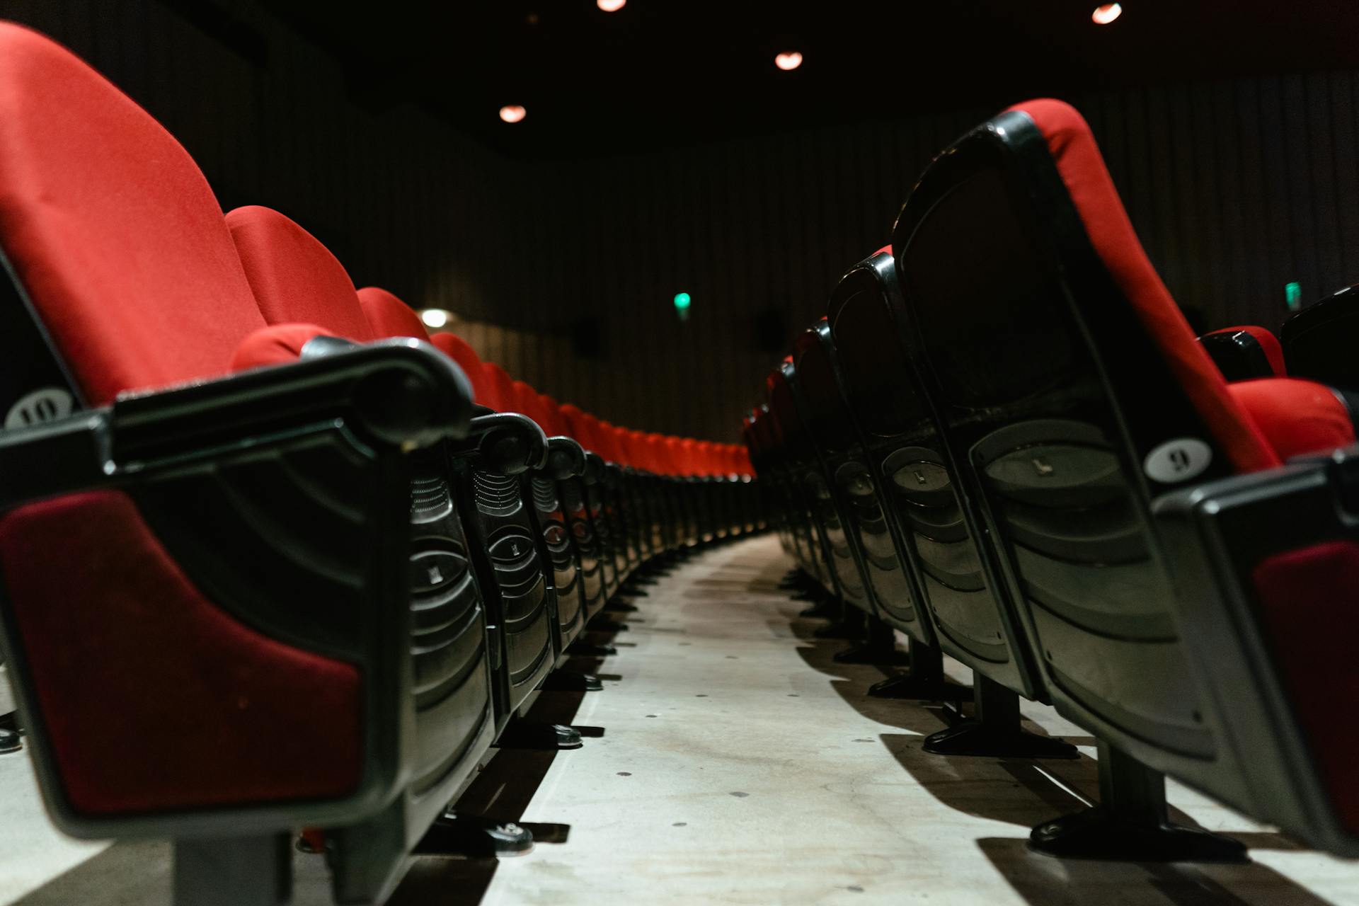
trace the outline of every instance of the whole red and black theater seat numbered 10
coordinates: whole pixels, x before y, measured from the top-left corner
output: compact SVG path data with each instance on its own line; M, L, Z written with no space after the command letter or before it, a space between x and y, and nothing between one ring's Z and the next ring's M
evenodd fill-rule
M292 827L371 820L423 763L386 577L404 451L465 433L465 379L409 344L230 374L268 327L202 174L10 23L0 249L5 405L46 402L0 432L0 632L48 814L174 839L177 903L276 903Z

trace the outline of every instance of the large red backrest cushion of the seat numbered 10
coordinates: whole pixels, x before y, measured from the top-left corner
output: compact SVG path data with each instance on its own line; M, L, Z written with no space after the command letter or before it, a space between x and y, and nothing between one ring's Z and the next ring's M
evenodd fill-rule
M264 326L188 152L12 23L0 23L0 246L91 403L227 374Z

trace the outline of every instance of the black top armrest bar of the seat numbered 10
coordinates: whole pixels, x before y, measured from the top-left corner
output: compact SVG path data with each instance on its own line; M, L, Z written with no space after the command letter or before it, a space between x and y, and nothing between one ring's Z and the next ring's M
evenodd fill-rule
M364 443L409 450L465 436L470 414L466 376L434 346L334 346L0 432L0 508L128 484L148 469L337 420Z

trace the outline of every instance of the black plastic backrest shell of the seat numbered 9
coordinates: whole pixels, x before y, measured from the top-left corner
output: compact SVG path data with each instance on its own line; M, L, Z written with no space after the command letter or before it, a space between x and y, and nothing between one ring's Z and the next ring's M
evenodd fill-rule
M1204 777L1220 770L1222 727L1180 642L1150 508L1152 493L1231 471L1196 409L1226 386L1121 208L1118 247L1095 253L1063 182L1087 193L1089 216L1114 216L1089 128L1065 105L1030 107L1082 152L1067 170L1030 114L1008 111L940 155L901 212L893 249L912 345L974 504L966 515L996 542L1061 713L1161 770ZM1091 201L1091 185L1108 190ZM1170 350L1190 378L1171 372Z

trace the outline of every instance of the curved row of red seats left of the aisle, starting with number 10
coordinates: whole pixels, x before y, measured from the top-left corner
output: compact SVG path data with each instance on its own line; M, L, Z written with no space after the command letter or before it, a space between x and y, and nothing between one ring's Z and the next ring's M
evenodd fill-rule
M525 714L601 687L560 668L607 653L610 598L762 527L742 448L428 337L281 213L223 217L144 110L8 23L0 251L22 724L58 827L174 839L177 902L284 902L302 829L340 902L423 839L523 845L448 803L492 746L582 744Z

